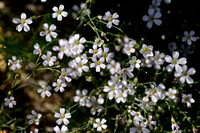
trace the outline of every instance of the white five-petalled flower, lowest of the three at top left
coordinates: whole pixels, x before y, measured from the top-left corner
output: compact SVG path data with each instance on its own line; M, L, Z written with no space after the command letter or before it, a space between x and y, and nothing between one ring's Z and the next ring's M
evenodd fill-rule
M44 31L40 32L40 36L46 36L45 39L47 42L51 42L51 37L56 38L57 37L57 33L54 32L54 30L56 29L56 26L54 24L49 25L47 23L43 24L43 29Z

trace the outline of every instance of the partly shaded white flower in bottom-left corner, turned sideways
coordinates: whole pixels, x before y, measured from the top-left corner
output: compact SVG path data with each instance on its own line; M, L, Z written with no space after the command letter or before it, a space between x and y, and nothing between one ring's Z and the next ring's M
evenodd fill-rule
M32 115L27 115L26 118L29 119L28 124L35 123L36 125L39 125L39 120L42 117L41 114L36 113L35 110L31 111Z

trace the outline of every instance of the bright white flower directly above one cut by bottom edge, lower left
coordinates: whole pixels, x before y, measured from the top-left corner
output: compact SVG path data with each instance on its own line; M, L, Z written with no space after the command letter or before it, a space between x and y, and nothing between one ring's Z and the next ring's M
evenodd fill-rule
M71 118L71 114L70 113L65 113L65 108L60 108L60 113L55 113L54 114L55 118L58 118L58 120L56 121L56 123L58 125L61 125L61 123L63 122L65 125L69 124L69 120L68 118Z

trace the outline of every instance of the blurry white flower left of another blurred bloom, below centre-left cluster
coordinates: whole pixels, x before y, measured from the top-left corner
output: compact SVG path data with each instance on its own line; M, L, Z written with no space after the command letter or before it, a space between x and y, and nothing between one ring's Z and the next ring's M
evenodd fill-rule
M80 106L85 106L86 99L87 99L87 93L88 91L86 89L83 89L82 91L76 90L76 96L74 96L74 102L79 102Z

